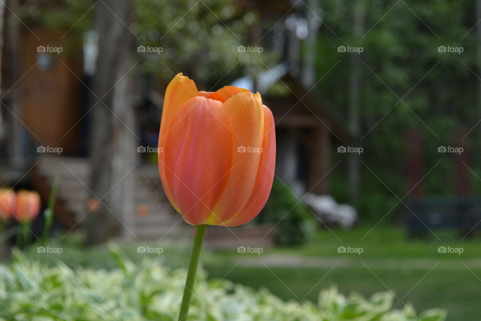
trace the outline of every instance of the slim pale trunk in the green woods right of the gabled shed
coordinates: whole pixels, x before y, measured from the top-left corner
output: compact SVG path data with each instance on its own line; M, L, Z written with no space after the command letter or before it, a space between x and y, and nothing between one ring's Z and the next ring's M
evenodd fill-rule
M357 0L354 8L354 37L359 39L365 28L366 5L364 0ZM351 75L349 77L349 132L352 143L359 144L360 116L359 92L361 85L361 57L351 53ZM354 152L348 154L349 201L354 203L358 196L360 181L360 155Z

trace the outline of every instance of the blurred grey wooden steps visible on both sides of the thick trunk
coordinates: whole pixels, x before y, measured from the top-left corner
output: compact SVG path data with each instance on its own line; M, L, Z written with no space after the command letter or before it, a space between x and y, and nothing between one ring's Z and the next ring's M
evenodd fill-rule
M127 226L135 236L133 239L175 240L189 232L180 214L170 205L162 190L156 165L138 164L132 170L135 174L134 209L132 226ZM37 185L48 198L50 186L56 176L60 177L56 213L71 227L82 228L86 224L90 170L88 158L43 156L35 168ZM42 193L44 191L44 193ZM60 204L60 209L58 208ZM71 228L68 227L68 228Z

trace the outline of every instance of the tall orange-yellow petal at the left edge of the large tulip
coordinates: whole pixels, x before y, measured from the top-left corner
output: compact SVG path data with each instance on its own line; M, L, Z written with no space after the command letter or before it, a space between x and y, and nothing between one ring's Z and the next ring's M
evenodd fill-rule
M176 126L176 121L173 115L175 115L180 107L186 103L189 99L198 96L197 87L195 83L188 77L183 76L182 73L177 74L172 81L167 86L165 90L164 106L162 108L162 121L160 123L159 132L159 150L165 148L165 136L168 134L169 130ZM164 163L164 153L158 153L159 164ZM165 176L164 168L159 167L160 176ZM165 194L169 200L172 200L172 195L168 189L164 189ZM176 204L172 203L172 206L178 211Z

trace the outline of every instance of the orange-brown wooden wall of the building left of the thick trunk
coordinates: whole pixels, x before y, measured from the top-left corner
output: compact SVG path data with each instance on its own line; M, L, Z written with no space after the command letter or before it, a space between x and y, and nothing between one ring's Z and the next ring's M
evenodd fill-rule
M23 32L21 40L20 67L25 75L19 83L22 121L40 138L40 145L62 147L64 155L75 154L79 138L75 124L83 116L81 48L69 54L67 48L60 54L42 54L39 46L59 46L62 36L38 29L34 33L40 40L29 31ZM48 55L52 64L39 62L41 55Z

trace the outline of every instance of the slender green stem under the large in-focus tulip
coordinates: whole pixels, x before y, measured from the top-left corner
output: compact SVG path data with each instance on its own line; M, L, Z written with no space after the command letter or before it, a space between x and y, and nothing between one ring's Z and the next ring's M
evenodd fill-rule
M185 280L182 304L180 304L179 321L187 321L190 299L192 298L192 292L194 290L195 274L197 273L197 265L199 265L200 250L202 249L202 241L206 228L207 224L197 225L195 227L194 245L192 246L192 254L190 254L189 271L187 272L187 280Z

